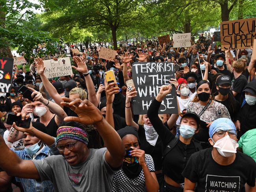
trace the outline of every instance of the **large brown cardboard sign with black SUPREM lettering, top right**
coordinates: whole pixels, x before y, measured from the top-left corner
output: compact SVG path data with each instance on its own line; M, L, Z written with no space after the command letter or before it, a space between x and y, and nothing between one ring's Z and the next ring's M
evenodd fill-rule
M256 38L256 18L220 23L222 50L250 48Z

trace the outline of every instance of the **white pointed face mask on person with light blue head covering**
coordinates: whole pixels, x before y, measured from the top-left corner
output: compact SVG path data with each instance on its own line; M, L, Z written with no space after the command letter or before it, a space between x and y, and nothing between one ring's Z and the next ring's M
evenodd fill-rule
M217 148L219 154L222 157L231 157L232 155L234 155L234 153L236 153L236 148L238 147L238 144L234 139L231 139L230 136L227 135L218 140L213 145L213 147Z

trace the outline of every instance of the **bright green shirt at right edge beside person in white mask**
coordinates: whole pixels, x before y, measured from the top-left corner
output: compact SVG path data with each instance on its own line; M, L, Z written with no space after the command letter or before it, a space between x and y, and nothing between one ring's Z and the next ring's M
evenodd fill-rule
M252 157L256 162L256 129L248 130L238 141L243 153Z

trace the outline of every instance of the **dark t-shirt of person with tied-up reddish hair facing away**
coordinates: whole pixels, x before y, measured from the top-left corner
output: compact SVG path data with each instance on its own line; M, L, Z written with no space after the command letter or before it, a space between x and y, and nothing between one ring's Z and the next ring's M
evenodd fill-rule
M237 92L237 95L235 95L235 99L240 103L242 103L242 91L246 85L247 85L247 79L243 75L240 75L236 79L234 78L232 80L232 85L231 85L232 91Z

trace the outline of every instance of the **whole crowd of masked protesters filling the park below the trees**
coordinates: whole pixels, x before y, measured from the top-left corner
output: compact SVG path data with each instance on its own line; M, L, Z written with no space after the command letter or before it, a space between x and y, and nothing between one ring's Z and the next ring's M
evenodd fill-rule
M101 43L72 44L35 58L29 71L15 65L11 92L0 97L0 192L12 183L24 192L256 192L253 48L222 50L213 41L125 43L114 61L99 58ZM48 79L43 60L69 48L76 73ZM138 90L126 85L135 62L176 66L147 114L133 114ZM116 82L108 84L109 70ZM178 114L158 114L172 89ZM31 118L29 128L7 124L9 114Z

